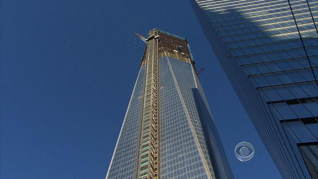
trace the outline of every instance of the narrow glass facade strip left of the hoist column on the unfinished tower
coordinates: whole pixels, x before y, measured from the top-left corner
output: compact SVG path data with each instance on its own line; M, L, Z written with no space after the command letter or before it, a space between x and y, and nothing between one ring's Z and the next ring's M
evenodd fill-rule
M140 68L127 113L119 133L107 179L133 179L137 160L146 67Z

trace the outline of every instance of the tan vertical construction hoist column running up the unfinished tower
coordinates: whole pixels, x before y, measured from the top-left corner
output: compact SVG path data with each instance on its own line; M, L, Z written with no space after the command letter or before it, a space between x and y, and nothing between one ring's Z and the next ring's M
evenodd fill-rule
M147 71L144 93L137 179L158 179L158 30L150 31L147 43Z

